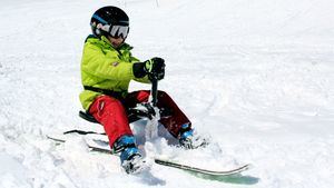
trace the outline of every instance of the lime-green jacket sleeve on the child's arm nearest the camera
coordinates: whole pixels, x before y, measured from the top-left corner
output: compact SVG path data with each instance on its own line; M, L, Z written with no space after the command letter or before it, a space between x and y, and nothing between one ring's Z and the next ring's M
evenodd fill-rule
M132 63L122 62L117 52L105 53L98 46L85 43L81 70L111 80L134 79Z

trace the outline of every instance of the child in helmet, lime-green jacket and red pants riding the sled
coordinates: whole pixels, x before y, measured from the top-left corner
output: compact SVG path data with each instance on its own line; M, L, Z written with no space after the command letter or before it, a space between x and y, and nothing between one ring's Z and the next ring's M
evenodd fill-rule
M164 79L165 61L153 58L140 62L131 56L132 47L125 43L129 18L117 7L97 10L90 26L92 34L85 41L81 61L85 90L80 93L80 101L87 112L104 126L111 149L120 152L126 172L137 172L145 159L137 149L127 109L147 102L149 91L128 92L129 82L136 80L149 83L150 75L155 75L158 80ZM179 139L180 146L196 148L191 122L166 92L158 91L157 107L171 111L171 116L161 118L159 122Z

